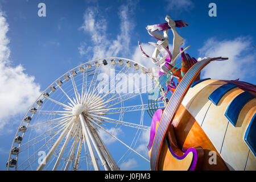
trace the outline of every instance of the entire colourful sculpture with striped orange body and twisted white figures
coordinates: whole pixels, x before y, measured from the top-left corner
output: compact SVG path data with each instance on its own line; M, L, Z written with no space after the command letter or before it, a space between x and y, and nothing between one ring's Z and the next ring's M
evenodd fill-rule
M143 55L156 65L147 73L154 76L159 92L164 90L159 78L166 78L167 91L156 100L168 97L168 90L172 93L166 108L155 110L152 116L147 146L151 170L255 170L256 85L238 80L200 80L205 65L227 58L191 58L184 53L188 47L180 48L183 38L175 30L188 24L168 15L166 21L147 26L148 33L158 39L158 43L150 43L156 47L151 57L139 44ZM174 34L172 53L168 29ZM177 67L179 55L181 66Z

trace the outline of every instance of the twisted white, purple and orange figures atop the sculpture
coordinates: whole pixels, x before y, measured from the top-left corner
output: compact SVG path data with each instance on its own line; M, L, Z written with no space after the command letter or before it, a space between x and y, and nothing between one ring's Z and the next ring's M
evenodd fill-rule
M150 34L152 37L158 40L157 43L149 42L152 46L155 47L155 50L151 56L147 55L147 53L143 51L141 44L138 42L139 48L141 49L143 56L150 59L152 63L156 65L156 67L148 69L148 71L151 72L150 74L152 77L160 77L161 75L164 75L170 72L170 70L174 68L176 65L177 57L179 57L180 55L181 57L186 56L184 51L189 48L188 46L185 49L181 49L181 51L179 50L180 45L183 44L184 39L179 34L177 34L175 30L175 27L178 27L178 28L185 27L185 26L188 26L188 23L186 23L184 20L172 20L168 15L166 16L166 22L167 23L154 24L146 27L148 34ZM172 44L173 46L172 53L169 50L169 38L168 38L169 29L171 29L174 35L173 44ZM159 31L163 32L163 34L161 34ZM189 59L189 60L191 60L193 63L196 61L196 59ZM167 91L166 93L162 94L162 97L160 97L158 101L166 97L167 93L170 90L172 93L174 92L176 88L175 82L173 81L174 77L176 77L177 80L180 81L181 78L184 76L184 74L182 74L181 76L181 71L178 68L172 69L171 72L173 72L174 75L170 73L171 76L166 81Z

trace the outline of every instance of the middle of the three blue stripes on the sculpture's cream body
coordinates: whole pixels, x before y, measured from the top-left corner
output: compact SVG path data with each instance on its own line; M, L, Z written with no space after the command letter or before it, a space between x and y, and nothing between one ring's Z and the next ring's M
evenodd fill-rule
M234 100L229 104L228 109L225 112L225 117L232 123L232 125L236 126L238 115L242 107L252 100L254 96L249 92L245 91L239 94Z

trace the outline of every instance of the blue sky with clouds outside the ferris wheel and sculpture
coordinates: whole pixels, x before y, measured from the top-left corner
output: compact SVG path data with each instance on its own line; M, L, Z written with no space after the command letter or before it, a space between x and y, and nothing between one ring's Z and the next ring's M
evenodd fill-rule
M40 2L46 4L46 17L38 16ZM208 15L211 2L217 5L216 17ZM166 15L189 24L176 28L185 39L184 47L191 46L189 55L229 57L225 63L210 63L202 77L240 78L255 84L255 7L255 1L216 0L0 1L0 137L5 138L0 144L0 169L6 169L23 115L49 84L99 57L125 57L147 65L138 40L152 52L147 42L156 41L145 27L165 23Z

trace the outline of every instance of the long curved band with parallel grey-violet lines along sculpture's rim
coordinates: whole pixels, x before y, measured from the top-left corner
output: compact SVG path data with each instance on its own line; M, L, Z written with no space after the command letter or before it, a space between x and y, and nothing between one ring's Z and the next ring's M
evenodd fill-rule
M193 78L193 76L197 73L197 71L205 64L207 61L210 59L205 59L201 60L199 63L195 64L184 76L184 78L181 80L180 84L177 86L174 94L171 97L171 100L168 104L166 109L164 110L163 117L159 123L158 130L156 131L154 143L152 146L152 153L151 153L151 158L150 158L150 164L151 164L151 169L155 170L156 169L156 160L158 158L158 151L160 148L160 144L162 142L162 139L164 137L164 133L166 131L166 128L170 122L170 118L173 115L175 111L175 107L180 101L180 96L184 93L184 90L187 88L189 82Z

